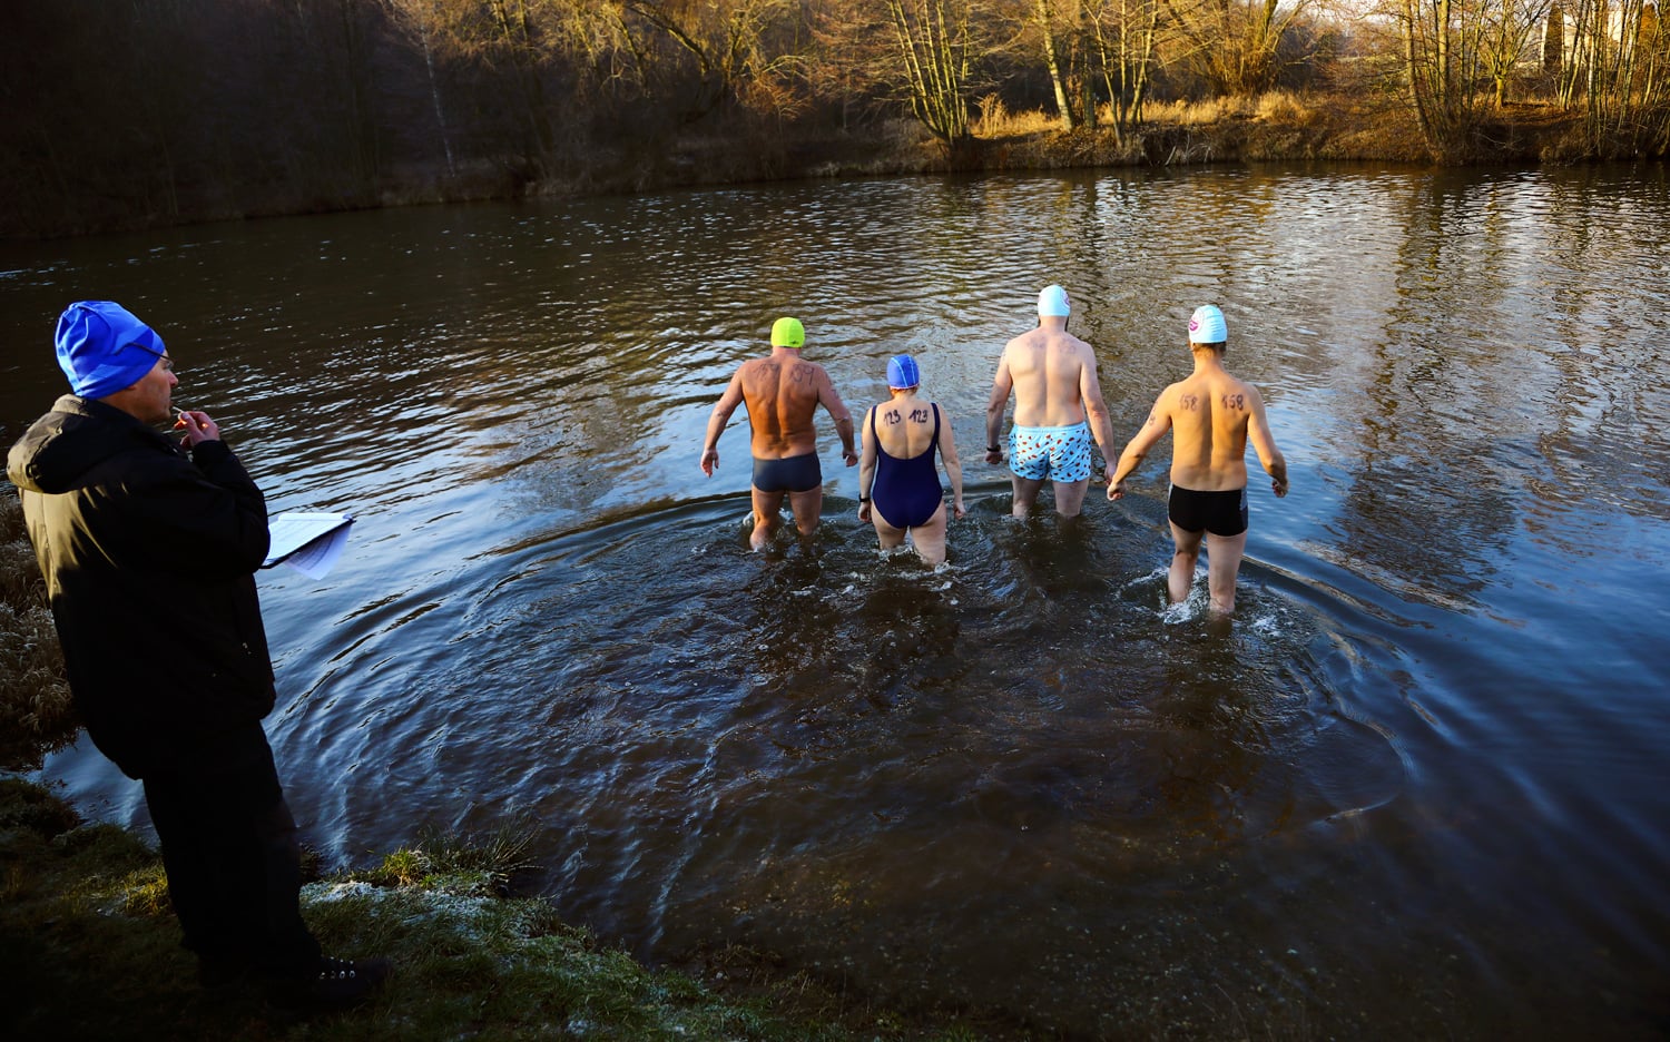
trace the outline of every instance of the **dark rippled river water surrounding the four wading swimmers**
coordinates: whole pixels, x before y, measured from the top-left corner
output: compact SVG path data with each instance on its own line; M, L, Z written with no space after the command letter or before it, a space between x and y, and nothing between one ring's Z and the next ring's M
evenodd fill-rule
M1227 314L1293 493L1234 620L1166 606L1166 468L1009 518L1002 344L1072 292L1121 444ZM7 439L72 299L125 302L272 511L291 803L337 863L536 835L561 913L997 1037L1655 1037L1670 1024L1670 180L1660 165L888 179L0 247ZM910 351L950 561L750 553L780 314L862 411ZM1162 444L1164 448L1164 444ZM1164 456L1164 453L1161 453ZM1256 466L1254 466L1256 471ZM1049 494L1044 496L1045 504ZM170 548L190 553L190 548ZM159 604L159 610L164 610ZM85 740L89 813L144 823Z

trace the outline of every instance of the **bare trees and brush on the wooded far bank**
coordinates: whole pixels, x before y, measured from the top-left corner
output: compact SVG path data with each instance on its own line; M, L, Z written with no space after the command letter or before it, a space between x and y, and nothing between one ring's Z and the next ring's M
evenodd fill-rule
M934 170L1662 157L1650 0L17 0L0 235Z

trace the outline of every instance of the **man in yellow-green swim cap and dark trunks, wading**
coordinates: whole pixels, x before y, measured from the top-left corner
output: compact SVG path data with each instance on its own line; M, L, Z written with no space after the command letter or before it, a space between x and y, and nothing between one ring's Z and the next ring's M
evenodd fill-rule
M812 422L818 406L828 409L835 421L847 466L858 464L852 414L823 366L800 357L805 342L807 329L800 319L782 317L772 322L772 354L738 366L708 417L701 473L711 478L720 466L718 446L725 424L736 406L748 406L753 451L753 534L748 543L755 549L767 546L777 534L785 496L802 538L810 538L818 528L823 514L823 469Z

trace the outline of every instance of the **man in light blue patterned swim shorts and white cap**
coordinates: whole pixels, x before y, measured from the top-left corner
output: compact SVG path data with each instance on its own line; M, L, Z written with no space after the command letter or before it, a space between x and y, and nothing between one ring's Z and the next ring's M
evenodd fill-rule
M1039 327L1009 341L992 377L992 397L985 407L985 461L1004 461L999 438L1009 396L1014 394L1009 471L1017 518L1030 513L1045 481L1055 491L1055 513L1077 518L1091 486L1091 439L1096 439L1104 459L1112 448L1114 427L1096 379L1096 351L1067 332L1070 314L1067 291L1045 286L1039 292Z

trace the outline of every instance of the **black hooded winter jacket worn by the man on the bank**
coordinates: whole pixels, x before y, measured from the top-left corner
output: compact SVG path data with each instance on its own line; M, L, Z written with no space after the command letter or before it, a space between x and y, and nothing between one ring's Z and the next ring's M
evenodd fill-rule
M232 449L187 454L67 394L12 446L7 476L99 751L132 778L240 761L276 691L254 578L267 503Z

